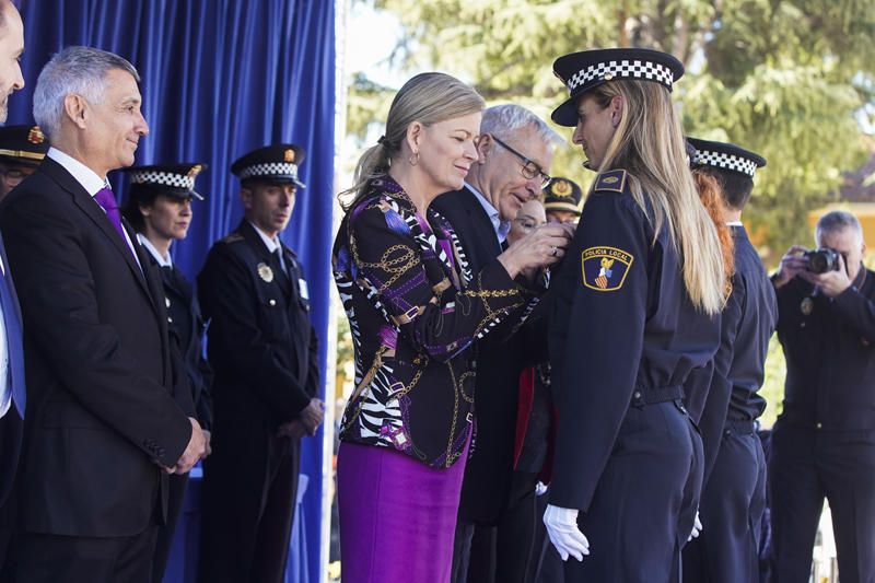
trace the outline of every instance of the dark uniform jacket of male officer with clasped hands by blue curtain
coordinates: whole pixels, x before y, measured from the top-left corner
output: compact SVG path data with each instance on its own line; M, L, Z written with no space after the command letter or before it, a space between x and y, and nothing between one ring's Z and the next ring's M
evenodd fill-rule
M229 419L231 411L233 419L266 423L262 430L272 434L317 394L317 340L306 281L294 253L284 245L281 249L288 276L244 219L212 246L198 275L215 374L217 438L222 417Z

